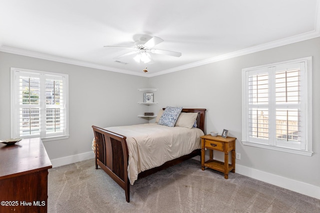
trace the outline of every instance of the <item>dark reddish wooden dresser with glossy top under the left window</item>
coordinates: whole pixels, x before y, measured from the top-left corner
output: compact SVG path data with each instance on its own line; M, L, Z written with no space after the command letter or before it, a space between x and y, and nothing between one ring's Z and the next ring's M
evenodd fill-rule
M41 139L0 143L0 213L46 213L50 168Z

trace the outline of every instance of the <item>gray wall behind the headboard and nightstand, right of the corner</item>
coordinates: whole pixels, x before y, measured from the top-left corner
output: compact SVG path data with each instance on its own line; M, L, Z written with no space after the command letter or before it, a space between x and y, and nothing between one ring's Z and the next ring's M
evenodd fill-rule
M320 38L297 42L252 54L154 76L150 87L158 88L153 111L165 106L206 108L205 130L229 130L236 137L242 165L292 180L320 186ZM241 144L241 69L312 56L312 157ZM152 110L150 110L152 111ZM220 153L216 153L217 158Z

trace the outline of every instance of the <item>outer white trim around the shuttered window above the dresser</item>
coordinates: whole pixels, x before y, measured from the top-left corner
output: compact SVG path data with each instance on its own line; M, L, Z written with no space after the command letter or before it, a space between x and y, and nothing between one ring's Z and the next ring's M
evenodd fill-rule
M68 75L67 74L62 74L62 73L54 73L54 72L45 72L45 71L38 71L38 70L31 70L31 69L22 69L22 68L15 68L15 67L11 67L10 68L10 116L11 116L11 138L19 138L20 136L16 135L16 130L17 130L17 108L19 107L16 103L17 97L16 97L16 89L17 89L17 85L16 85L16 72L26 72L26 73L30 73L35 74L35 75L51 75L51 76L59 76L59 77L63 77L65 78L65 87L63 88L65 91L65 133L64 135L58 135L58 136L51 136L51 137L45 137L42 138L40 135L40 138L42 141L53 141L53 140L61 140L61 139L67 139L69 137L69 117L68 117ZM27 136L24 138L36 138L39 136Z

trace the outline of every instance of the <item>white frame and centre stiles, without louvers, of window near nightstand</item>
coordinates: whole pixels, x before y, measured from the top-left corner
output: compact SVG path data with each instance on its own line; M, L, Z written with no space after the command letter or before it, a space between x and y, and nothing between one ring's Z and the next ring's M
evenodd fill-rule
M250 71L257 71L258 70L272 70L270 71L271 74L269 76L272 78L269 80L269 88L271 91L269 91L269 94L271 94L271 97L269 97L269 103L268 107L271 105L271 109L269 110L275 110L275 72L279 71L276 68L280 66L286 66L290 65L293 63L300 63L304 62L304 72L300 74L301 76L301 86L303 89L300 91L300 97L301 99L304 99L301 104L303 104L305 107L304 109L301 109L301 113L304 114L304 126L301 127L301 131L303 131L303 141L301 140L301 143L305 143L305 150L303 149L296 149L296 148L288 148L288 147L283 147L280 146L279 144L276 144L274 142L270 142L268 140L267 143L259 143L259 140L254 140L248 137L247 133L249 130L249 114L248 114L248 109L249 109L249 104L248 104L248 87L247 87L247 79ZM268 71L269 72L269 71ZM303 107L301 107L303 108ZM274 112L268 112L269 115L271 114L272 116L269 116L270 122L269 124L269 131L273 131L273 136L274 134L274 128L275 128L275 115ZM272 119L272 120L271 120ZM271 139L271 140L275 140ZM253 147L258 147L258 148L264 148L264 149L270 149L270 150L276 150L276 151L282 151L282 152L288 152L288 153L293 153L293 154L299 154L299 155L305 155L305 156L312 156L312 56L309 57L304 57L304 58L298 58L294 60L288 60L288 61L282 61L282 62L277 62L277 63L271 63L271 64L266 64L266 65L261 65L261 66L255 66L255 67L248 67L248 68L243 68L242 69L242 140L241 143L243 145L247 146L253 146ZM303 145L302 145L303 146ZM292 146L293 147L293 146Z

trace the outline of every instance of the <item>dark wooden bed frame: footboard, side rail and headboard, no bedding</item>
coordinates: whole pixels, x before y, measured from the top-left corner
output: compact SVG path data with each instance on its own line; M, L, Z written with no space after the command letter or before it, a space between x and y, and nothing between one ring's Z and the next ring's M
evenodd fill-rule
M198 113L197 128L204 132L204 115L206 109L182 109L182 112ZM95 139L95 169L98 166L105 171L125 192L126 202L130 201L130 185L127 174L128 168L128 148L126 137L108 130L92 126ZM200 155L200 149L194 150L190 154L168 161L163 165L143 171L138 174L138 179L151 175L160 170L178 164L187 159Z

